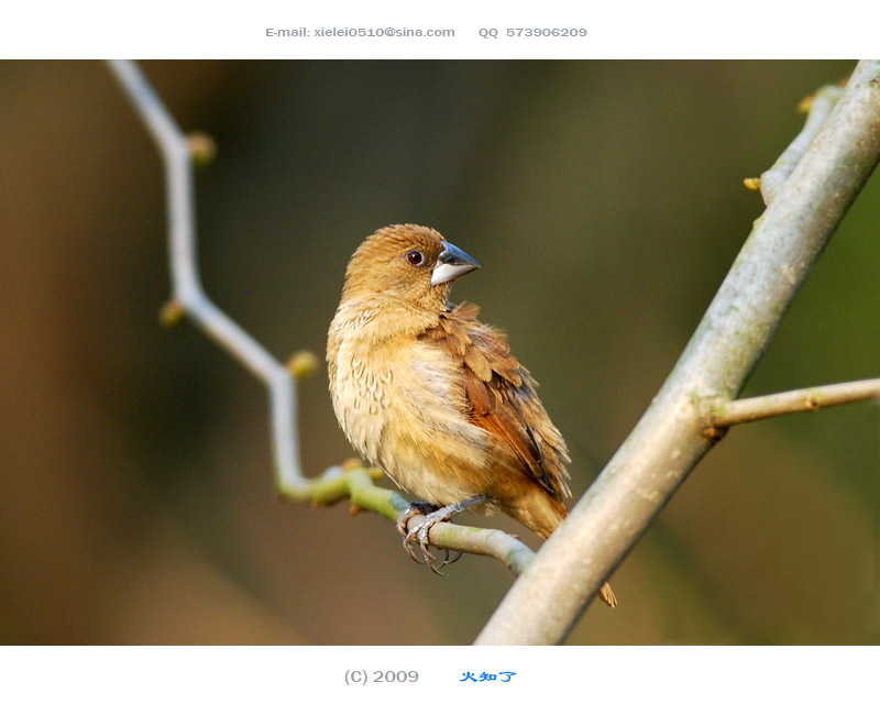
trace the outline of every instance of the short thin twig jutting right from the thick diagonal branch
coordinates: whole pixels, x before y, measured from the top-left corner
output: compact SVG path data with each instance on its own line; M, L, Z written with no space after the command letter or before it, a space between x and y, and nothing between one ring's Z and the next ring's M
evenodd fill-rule
M712 398L705 400L703 408L706 429L716 429L754 422L766 417L815 411L823 407L866 399L880 399L880 378L805 387L746 399Z

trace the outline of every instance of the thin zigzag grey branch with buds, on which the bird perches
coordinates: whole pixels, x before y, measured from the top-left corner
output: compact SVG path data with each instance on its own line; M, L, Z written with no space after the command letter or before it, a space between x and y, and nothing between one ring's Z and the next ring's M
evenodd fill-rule
M196 251L195 186L190 138L175 123L150 81L131 61L109 61L135 111L146 125L165 163L168 211L168 246L172 272L172 300L162 310L162 320L173 324L184 315L209 338L227 350L267 387L271 405L275 484L287 499L329 505L344 498L362 509L377 512L397 521L408 502L397 492L373 484L378 476L359 464L332 468L316 479L304 476L300 468L296 422L296 383L292 370L218 308L206 295L199 279ZM200 144L205 144L201 138ZM424 517L410 519L413 526ZM451 549L494 557L520 573L535 552L515 537L497 529L477 529L452 524L431 527L428 541Z

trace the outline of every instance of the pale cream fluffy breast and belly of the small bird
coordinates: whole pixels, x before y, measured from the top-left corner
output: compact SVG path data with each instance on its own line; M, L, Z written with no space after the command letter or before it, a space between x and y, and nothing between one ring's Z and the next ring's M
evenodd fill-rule
M433 504L479 493L474 479L486 474L491 448L468 419L450 355L413 336L377 340L369 329L338 331L331 343L333 408L358 452Z

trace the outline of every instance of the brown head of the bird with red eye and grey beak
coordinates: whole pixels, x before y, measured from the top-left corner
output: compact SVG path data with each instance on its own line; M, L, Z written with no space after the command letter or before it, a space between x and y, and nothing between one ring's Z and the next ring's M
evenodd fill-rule
M452 282L479 267L433 229L413 223L388 226L354 252L342 299L383 294L426 310L446 310Z

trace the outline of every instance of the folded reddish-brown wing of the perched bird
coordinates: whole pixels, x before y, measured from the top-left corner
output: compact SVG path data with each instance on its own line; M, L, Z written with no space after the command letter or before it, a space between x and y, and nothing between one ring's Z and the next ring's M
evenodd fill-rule
M538 399L531 375L510 354L504 334L476 319L479 310L461 304L441 314L425 339L460 361L469 420L495 435L522 471L561 501L570 495L565 441Z

